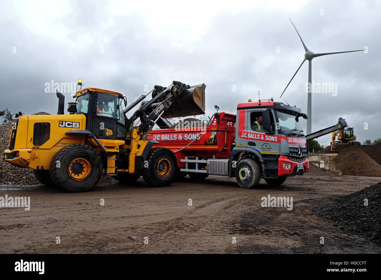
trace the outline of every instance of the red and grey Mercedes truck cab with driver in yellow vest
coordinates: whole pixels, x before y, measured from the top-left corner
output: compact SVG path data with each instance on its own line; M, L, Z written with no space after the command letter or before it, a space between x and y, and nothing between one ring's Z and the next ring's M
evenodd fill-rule
M239 184L248 185L248 177L256 171L251 164L240 164L245 158L258 165L261 177L269 184L279 185L288 176L309 171L307 141L299 117L307 115L295 106L272 99L258 102L249 99L238 104L236 144L230 161L237 164L235 177Z

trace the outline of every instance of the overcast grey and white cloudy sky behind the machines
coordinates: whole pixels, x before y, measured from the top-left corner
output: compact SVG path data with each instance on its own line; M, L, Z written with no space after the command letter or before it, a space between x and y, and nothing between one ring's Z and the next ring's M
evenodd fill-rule
M0 107L55 114L58 99L45 83L82 78L128 103L145 85L179 80L207 85L208 115L215 104L235 114L258 91L306 112L308 62L279 98L304 59L291 18L314 53L368 50L312 60L312 80L337 85L312 94L312 131L343 117L359 141L380 137L381 2L251 2L2 1Z

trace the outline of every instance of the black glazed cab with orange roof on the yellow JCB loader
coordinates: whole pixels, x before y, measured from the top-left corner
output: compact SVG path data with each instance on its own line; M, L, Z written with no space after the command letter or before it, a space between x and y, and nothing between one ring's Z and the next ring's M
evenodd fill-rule
M86 116L86 130L90 130L98 139L125 139L122 94L98 88L85 88L78 91L75 98L76 114Z

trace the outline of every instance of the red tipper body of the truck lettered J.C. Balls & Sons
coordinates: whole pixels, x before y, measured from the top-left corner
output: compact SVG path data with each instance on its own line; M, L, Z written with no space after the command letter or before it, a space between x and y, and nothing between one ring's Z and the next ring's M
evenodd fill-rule
M148 139L160 142L160 144L154 144L153 147L166 147L175 152L197 138L191 145L175 154L179 168L185 167L185 163L180 161L185 157L229 158L231 150L235 146L235 118L236 116L233 114L221 112L219 113L219 123L214 117L202 134L200 134L202 126L158 129L152 130Z

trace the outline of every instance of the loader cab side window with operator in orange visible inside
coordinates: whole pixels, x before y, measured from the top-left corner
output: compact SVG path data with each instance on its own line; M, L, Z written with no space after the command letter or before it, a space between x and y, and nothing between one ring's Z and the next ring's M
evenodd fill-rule
M96 101L96 115L119 120L120 106L117 94L98 93Z

